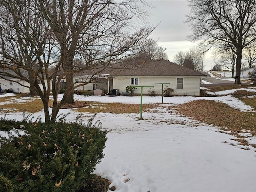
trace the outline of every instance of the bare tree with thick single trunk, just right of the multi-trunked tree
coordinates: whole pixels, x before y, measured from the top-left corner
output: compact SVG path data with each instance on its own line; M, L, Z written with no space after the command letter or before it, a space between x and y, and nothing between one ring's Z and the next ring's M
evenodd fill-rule
M75 73L88 71L92 66L94 71L100 70L102 62L110 64L133 54L155 28L136 29L132 20L137 16L144 18L145 12L130 0L39 1L39 4L60 46L60 60L66 72L64 97L67 103L74 103ZM87 68L74 70L74 58L81 58Z

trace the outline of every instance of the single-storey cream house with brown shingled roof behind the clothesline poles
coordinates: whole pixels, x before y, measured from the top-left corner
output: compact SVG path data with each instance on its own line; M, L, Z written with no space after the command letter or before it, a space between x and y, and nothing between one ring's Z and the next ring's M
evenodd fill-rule
M84 90L105 89L111 94L111 90L118 90L119 93L126 92L127 86L154 86L156 94L162 94L162 85L167 84L173 88L175 95L200 95L200 79L204 74L192 69L174 64L167 60L154 60L143 62L132 66L120 66L115 70L104 72L105 74L95 76L94 81L82 87ZM89 76L76 76L77 81L86 81ZM83 78L83 80L82 80ZM165 85L164 85L165 88ZM148 94L149 88L143 89L143 94ZM134 94L140 94L140 88Z

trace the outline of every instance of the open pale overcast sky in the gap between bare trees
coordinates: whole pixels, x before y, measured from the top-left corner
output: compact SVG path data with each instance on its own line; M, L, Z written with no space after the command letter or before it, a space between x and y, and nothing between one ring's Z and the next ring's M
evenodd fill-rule
M188 24L184 23L186 14L189 13L188 2L186 0L148 0L152 8L150 24L159 25L150 35L151 38L158 39L158 44L167 48L166 53L170 61L174 60L174 55L178 51L186 52L196 43L186 40L191 33ZM210 53L204 56L204 70L210 70L214 66L214 61Z

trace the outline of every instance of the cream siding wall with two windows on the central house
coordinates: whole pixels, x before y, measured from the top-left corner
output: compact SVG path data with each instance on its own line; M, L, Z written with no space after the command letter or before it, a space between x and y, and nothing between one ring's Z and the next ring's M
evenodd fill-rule
M200 95L200 77L199 76L179 76L183 78L183 89L176 89L177 77L170 76L132 76L132 78L139 78L139 86L154 86L156 94L162 94L162 85L156 83L170 83L166 84L168 88L174 89L174 95L189 95L199 96ZM130 77L118 76L113 79L114 89L119 89L119 92L126 92L125 88L130 85ZM166 88L163 85L163 88ZM150 88L144 87L143 94L148 94ZM137 88L134 92L140 94L140 88Z

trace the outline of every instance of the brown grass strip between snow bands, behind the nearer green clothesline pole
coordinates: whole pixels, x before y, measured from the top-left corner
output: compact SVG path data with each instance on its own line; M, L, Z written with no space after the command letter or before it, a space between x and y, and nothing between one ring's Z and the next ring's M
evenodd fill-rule
M76 109L78 112L89 113L140 113L140 104L123 104L123 103L100 103L87 102L88 106ZM156 107L157 104L143 104L142 110L147 111L150 108Z

